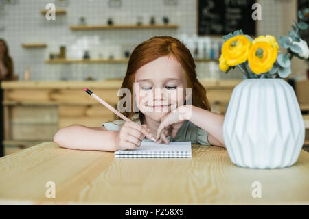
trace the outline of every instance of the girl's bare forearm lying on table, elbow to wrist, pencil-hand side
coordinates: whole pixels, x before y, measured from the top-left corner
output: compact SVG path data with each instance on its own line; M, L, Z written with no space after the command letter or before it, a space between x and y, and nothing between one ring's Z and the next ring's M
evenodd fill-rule
M105 127L71 125L59 129L54 136L54 142L67 149L117 151L116 134L117 131L106 131Z

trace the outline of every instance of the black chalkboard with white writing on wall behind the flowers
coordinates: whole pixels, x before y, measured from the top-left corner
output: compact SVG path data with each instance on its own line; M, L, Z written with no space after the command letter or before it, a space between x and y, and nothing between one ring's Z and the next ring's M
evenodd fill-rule
M242 29L255 36L255 0L198 0L198 36L225 35Z

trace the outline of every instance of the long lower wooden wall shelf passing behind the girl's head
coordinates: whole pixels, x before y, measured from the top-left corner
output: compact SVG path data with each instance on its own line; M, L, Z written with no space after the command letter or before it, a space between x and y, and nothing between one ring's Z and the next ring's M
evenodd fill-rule
M195 59L195 62L216 62L218 60L209 60L209 59ZM115 59L115 60L65 60L65 59L54 59L54 60L45 60L47 64L71 64L71 63L80 63L80 64L95 64L95 63L127 63L128 59Z

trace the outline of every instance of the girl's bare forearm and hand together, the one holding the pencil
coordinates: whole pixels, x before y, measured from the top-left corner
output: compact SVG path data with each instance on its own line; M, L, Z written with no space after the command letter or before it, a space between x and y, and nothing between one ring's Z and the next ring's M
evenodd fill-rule
M71 125L57 131L54 142L67 149L117 151L137 149L145 136L152 138L148 127L129 121L119 131L108 131L105 127Z

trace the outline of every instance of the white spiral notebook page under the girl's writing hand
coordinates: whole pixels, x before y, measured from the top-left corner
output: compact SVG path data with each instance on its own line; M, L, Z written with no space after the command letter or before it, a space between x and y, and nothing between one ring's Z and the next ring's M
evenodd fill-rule
M115 157L117 155L192 155L191 142L170 142L170 144L141 142L141 146L137 149L115 151Z

